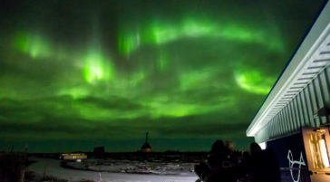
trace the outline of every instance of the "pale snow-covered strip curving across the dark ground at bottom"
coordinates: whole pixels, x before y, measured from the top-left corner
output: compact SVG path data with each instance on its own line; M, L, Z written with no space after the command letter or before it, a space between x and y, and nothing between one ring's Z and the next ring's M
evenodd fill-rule
M193 172L183 171L179 166L173 166L175 164L160 164L160 166L168 168L157 168L160 172L152 171L151 174L127 174L127 173L116 173L118 171L112 170L107 166L102 166L102 168L110 169L113 172L95 172L86 170L77 170L62 168L60 166L61 160L51 159L51 158L30 158L31 160L36 160L37 162L32 164L28 170L34 171L38 176L53 176L57 178L67 179L69 182L77 182L82 179L89 179L95 182L194 182L197 177ZM129 161L123 162L116 161L116 164L121 165L121 168L128 167ZM154 166L152 164L151 166ZM148 165L147 165L148 166ZM99 168L95 166L96 168ZM113 167L113 166L112 166ZM173 168L170 169L169 168ZM113 168L118 169L118 168ZM148 169L148 168L147 168ZM155 170L156 168L153 168ZM187 169L187 168L186 168ZM161 172L162 171L162 172ZM165 172L164 172L165 171ZM170 172L166 172L170 171ZM173 172L177 171L177 172Z

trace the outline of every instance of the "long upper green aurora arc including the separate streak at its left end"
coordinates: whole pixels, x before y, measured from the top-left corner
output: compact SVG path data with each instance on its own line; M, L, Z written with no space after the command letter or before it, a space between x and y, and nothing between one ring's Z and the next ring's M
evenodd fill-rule
M265 32L243 24L217 23L209 19L186 18L179 24L156 22L146 25L139 34L120 34L119 51L129 54L141 43L170 43L187 37L221 38L243 43L261 43L274 51L283 51L283 42L276 31ZM271 34L271 35L269 35Z

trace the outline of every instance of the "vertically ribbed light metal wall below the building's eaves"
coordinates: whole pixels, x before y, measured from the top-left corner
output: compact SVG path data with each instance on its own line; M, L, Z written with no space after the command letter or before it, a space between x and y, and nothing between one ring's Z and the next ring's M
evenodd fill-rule
M300 132L301 127L319 127L330 124L329 116L315 117L317 110L330 104L330 67L320 72L305 89L300 91L292 101L280 110L260 129L255 136L257 142L285 137Z

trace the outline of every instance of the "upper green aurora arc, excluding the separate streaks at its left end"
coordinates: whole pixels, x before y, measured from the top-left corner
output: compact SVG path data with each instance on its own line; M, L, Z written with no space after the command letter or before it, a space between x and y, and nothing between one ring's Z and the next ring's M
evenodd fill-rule
M281 43L264 32L239 24L216 24L187 19L179 26L163 24L153 27L156 43L168 43L184 37L214 37L240 42L262 43L270 48L281 49ZM269 41L269 39L272 39Z

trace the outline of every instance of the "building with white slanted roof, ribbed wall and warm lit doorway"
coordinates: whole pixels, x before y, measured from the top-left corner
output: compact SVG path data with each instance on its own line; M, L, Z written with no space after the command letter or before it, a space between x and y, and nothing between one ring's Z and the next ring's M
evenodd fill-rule
M283 182L330 181L329 63L327 2L247 130L276 152Z

